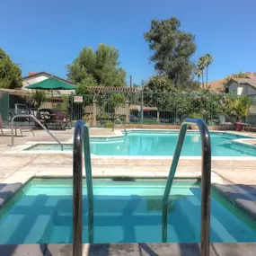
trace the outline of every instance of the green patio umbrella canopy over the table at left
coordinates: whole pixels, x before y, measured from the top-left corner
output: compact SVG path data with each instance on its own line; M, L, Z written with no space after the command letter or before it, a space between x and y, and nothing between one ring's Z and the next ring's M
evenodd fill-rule
M54 77L50 77L36 84L31 84L26 88L35 90L75 90L75 86L66 84L65 82Z

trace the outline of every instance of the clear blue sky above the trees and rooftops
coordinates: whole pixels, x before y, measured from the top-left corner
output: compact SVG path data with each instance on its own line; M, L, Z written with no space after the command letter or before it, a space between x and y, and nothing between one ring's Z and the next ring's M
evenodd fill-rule
M119 49L121 66L140 84L154 75L143 38L152 19L176 16L196 36L197 60L207 52L214 63L209 80L256 71L255 0L10 0L2 1L0 47L22 75L47 71L66 77L84 46Z

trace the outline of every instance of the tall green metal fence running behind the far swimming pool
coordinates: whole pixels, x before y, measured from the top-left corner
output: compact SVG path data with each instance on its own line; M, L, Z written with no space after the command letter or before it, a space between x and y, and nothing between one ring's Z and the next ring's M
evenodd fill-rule
M40 102L29 93L0 93L0 113L7 122L22 110L35 115L43 110L55 110L65 113L72 126L77 119L93 124L94 108L99 127L111 127L113 119L121 119L123 123L176 125L188 117L202 118L207 125L217 125L221 115L230 119L227 102L237 97L213 93L46 94Z

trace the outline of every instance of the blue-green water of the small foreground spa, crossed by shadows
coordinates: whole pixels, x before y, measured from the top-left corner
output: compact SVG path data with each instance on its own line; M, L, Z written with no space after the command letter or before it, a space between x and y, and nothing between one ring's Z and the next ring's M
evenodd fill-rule
M165 181L93 181L94 243L161 242ZM174 181L168 214L168 242L200 241L200 187ZM83 240L88 243L84 183ZM0 243L72 243L72 181L31 181L0 214ZM212 242L256 242L256 224L214 190Z

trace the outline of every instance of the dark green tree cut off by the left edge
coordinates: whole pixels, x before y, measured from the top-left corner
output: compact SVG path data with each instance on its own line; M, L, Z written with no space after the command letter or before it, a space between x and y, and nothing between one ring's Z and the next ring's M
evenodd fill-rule
M22 87L22 70L0 48L0 88L15 89Z

